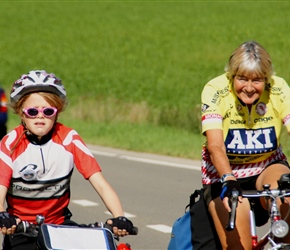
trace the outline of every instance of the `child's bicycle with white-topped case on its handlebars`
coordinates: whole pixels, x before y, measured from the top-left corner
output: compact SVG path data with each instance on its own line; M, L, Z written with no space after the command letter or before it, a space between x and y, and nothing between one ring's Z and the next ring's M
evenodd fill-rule
M132 250L130 244L119 243L119 237L113 235L112 225L103 223L56 225L44 223L44 216L37 215L36 223L21 221L15 234L27 237L39 237L37 249L106 249ZM133 227L130 235L137 235L138 228ZM38 238L39 239L39 238Z

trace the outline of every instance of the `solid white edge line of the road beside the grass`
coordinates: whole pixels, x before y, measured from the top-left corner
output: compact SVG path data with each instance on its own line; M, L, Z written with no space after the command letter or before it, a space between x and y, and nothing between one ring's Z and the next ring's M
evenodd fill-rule
M156 164L156 165L163 165L168 167L175 167L175 168L184 168L184 169L191 169L191 170L197 170L201 171L200 166L193 166L193 165L187 165L187 164L181 164L181 163L175 163L175 162L168 162L168 161L158 161L158 160L152 160L148 158L141 158L141 157L133 157L128 155L118 155L114 153L107 153L103 151L96 151L91 150L91 152L95 155L103 155L103 156L109 156L109 157L118 157L120 159L125 159L128 161L137 161L137 162L143 162L143 163L150 163L150 164Z

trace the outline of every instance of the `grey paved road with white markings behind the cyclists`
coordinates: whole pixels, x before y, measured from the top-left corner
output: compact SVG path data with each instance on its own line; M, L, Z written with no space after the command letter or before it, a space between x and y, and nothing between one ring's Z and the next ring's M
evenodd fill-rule
M103 174L119 194L126 216L139 228L127 236L133 250L167 249L171 226L189 195L201 187L200 163L188 159L135 153L89 145ZM110 215L89 182L77 172L70 210L80 223L105 221Z

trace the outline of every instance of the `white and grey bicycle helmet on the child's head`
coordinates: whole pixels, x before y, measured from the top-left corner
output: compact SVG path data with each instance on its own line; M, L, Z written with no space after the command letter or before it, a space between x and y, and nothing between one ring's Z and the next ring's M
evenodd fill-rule
M18 102L28 93L38 91L54 93L61 99L66 99L66 91L59 78L45 70L32 70L14 82L10 92L11 103Z

